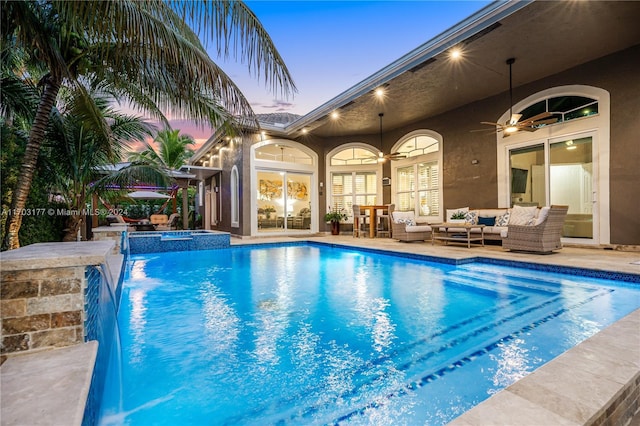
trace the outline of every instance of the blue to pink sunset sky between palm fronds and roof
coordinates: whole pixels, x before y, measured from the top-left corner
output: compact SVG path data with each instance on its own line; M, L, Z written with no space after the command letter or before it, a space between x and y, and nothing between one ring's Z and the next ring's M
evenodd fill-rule
M211 58L240 87L258 114L304 115L480 10L488 1L248 1L273 39L298 88L270 93L246 65ZM211 44L211 43L210 43ZM185 122L174 128L198 145L211 136Z

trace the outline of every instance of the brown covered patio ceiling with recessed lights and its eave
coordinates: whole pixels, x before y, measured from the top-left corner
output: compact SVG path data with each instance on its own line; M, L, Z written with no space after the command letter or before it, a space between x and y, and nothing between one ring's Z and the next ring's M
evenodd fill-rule
M493 3L291 123L283 134L375 134L379 112L388 131L501 93L506 110L507 58L516 58L517 88L640 43L638 22L638 1ZM458 60L450 58L455 47L462 50ZM381 86L382 100L373 93ZM334 110L338 119L330 117Z

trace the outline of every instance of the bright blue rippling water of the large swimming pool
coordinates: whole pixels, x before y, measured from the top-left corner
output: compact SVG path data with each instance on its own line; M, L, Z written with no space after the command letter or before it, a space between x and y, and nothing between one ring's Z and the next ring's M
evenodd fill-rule
M635 283L322 245L133 255L100 424L444 424L638 307Z

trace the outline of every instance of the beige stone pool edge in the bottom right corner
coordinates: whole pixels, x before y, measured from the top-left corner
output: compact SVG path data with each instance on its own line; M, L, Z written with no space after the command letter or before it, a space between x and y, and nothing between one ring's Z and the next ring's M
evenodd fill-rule
M639 409L640 309L449 423L625 425Z

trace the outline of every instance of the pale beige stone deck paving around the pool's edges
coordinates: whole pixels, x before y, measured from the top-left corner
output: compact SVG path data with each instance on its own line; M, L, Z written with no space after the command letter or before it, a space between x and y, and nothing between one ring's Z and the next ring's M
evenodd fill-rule
M601 271L640 275L640 252L565 247L551 255L511 253L500 246L472 247L432 246L430 242L400 243L388 238L357 239L349 236L303 236L273 238L231 238L231 245L317 241L368 249L466 259L487 257L556 266L570 266ZM111 268L110 268L111 269ZM114 268L117 269L117 266ZM112 274L118 276L117 270ZM84 345L78 345L84 346ZM28 357L17 356L0 368L2 425L58 425L64 413L77 413L78 407L63 408L72 401L84 406L85 388L69 391L51 386L55 376L62 383L77 383L86 378L87 363L78 370L75 363L52 364L55 351L43 351ZM85 351L90 360L92 351ZM22 359L21 359L22 358ZM83 359L84 359L83 358ZM53 358L54 360L56 358ZM17 368L16 363L19 363ZM55 369L55 374L45 374ZM34 374L36 372L37 374ZM51 373L54 373L51 371ZM75 378L75 379L74 379ZM452 425L626 425L633 413L632 425L640 424L640 309L587 339L575 348L545 364L451 422ZM6 395L20 395L9 398ZM25 409L38 401L42 410ZM613 403L612 403L613 402ZM73 404L72 404L73 405ZM20 414L16 416L16 414ZM64 424L80 424L76 416ZM81 419L80 419L81 421Z

